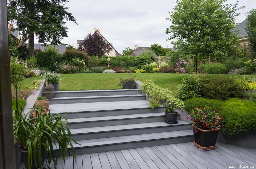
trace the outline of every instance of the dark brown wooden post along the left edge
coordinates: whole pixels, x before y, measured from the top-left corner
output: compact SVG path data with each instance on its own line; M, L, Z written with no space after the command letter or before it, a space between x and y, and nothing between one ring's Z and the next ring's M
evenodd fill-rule
M0 169L14 169L7 1L0 0Z

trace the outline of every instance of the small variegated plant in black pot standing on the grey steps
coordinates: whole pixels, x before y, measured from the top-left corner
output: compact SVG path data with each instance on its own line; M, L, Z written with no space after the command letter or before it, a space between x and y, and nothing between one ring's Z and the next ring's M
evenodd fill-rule
M175 112L174 109L176 107L182 108L184 106L184 103L180 99L175 98L172 94L167 94L163 105L165 106L165 122L168 124L178 123L178 113Z

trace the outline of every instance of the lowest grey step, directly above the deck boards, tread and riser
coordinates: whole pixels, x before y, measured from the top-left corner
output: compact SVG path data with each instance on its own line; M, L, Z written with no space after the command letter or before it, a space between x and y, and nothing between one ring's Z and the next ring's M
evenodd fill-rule
M77 143L80 145L73 143L73 146L75 148L76 154L78 155L84 153L116 151L165 144L186 143L193 140L193 130L189 129L172 132L81 140L77 141ZM57 148L55 147L55 155L56 150Z

